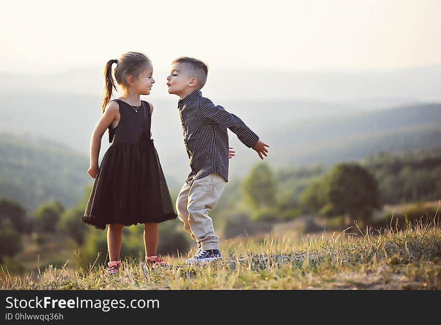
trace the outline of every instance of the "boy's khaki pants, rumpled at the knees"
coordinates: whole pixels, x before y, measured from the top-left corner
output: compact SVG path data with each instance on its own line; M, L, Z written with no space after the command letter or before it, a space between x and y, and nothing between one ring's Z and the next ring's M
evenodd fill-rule
M196 179L190 186L182 186L176 200L176 211L184 223L184 230L201 243L202 250L218 249L213 220L208 216L224 191L226 181L217 173Z

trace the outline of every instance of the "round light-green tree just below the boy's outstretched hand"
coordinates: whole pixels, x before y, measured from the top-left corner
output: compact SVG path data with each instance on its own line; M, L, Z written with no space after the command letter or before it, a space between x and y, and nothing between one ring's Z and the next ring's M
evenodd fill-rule
M246 200L254 207L272 206L276 202L276 181L270 167L259 163L241 185Z

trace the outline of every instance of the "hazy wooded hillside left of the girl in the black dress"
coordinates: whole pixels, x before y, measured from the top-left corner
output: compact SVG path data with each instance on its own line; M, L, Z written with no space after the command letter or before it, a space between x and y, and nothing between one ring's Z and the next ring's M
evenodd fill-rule
M72 206L91 182L89 159L47 139L0 134L0 196L34 210L51 199Z

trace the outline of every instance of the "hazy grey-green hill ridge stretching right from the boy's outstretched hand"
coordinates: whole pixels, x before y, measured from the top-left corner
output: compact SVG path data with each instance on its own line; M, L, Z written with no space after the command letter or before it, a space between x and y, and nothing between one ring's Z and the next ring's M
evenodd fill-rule
M271 146L267 161L277 167L290 167L359 160L379 151L433 147L441 139L440 126L441 104L417 104L285 123L259 135ZM243 147L235 136L231 140L233 147ZM232 160L232 165L245 173L256 157L250 151L241 155Z

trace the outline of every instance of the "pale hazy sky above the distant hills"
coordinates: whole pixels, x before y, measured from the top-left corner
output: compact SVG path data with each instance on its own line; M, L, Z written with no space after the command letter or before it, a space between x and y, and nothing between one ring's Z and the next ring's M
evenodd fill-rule
M441 1L17 1L0 12L1 72L104 67L126 51L155 67L381 70L441 64Z

